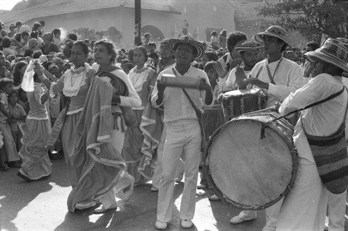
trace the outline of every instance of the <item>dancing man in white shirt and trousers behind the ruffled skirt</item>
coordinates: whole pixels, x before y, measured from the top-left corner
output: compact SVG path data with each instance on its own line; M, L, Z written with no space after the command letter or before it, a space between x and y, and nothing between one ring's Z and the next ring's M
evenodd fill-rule
M114 183L110 184L113 189L109 190L100 198L102 205L95 209L95 213L99 214L109 209L116 209L116 197L127 201L130 196L132 196L134 177L125 171L125 161L121 156L123 141L125 139L125 131L127 129L125 115L123 114L124 111L121 109L121 107L126 106L129 109L132 107L139 107L141 106L141 99L136 93L136 90L134 90L132 83L127 77L127 74L125 74L120 67L116 67L116 51L112 42L106 39L95 42L94 58L96 63L94 63L92 67L97 71L96 75L113 89L111 99L113 126L109 132L111 135L110 138L112 147L104 148L102 151L104 159L109 159L109 166L104 168L112 169L115 167L112 165L112 161L118 161L118 163L120 163L118 166L116 166L116 171L113 171L113 173L116 173L116 175L112 175L110 172L108 175L104 175L104 182L106 182L107 179L110 179L113 180ZM95 77L95 83L93 84L97 83L97 79L98 78ZM104 94L105 93L106 90L104 90ZM106 145L106 143L104 145ZM108 151L112 152L108 154ZM105 187L107 187L106 184ZM123 189L125 188L127 188L127 192L124 193Z

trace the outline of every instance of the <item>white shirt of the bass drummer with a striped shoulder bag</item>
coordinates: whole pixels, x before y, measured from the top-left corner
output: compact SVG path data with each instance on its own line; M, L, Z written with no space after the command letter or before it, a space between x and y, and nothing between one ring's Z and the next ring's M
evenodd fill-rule
M330 74L319 74L314 79L310 79L305 86L299 88L299 90L296 90L284 99L279 112L281 115L286 115L291 111L303 109L309 104L338 93L343 87L344 84L342 83L341 77L333 77ZM341 95L327 102L304 110L302 121L306 133L314 136L330 136L336 132L340 125L342 125L343 117L347 110L347 100L348 93L345 90ZM347 118L345 122L347 136ZM315 163L308 141L301 127L301 120L297 121L293 138L298 156Z

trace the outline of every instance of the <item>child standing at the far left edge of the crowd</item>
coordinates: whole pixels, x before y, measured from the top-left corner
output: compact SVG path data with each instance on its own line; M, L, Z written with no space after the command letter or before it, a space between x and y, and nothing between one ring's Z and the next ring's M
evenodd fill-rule
M13 82L8 78L0 79L0 131L3 134L3 143L6 150L8 166L20 168L19 154L13 140L12 132L8 122L12 120L8 113L8 95L13 92Z

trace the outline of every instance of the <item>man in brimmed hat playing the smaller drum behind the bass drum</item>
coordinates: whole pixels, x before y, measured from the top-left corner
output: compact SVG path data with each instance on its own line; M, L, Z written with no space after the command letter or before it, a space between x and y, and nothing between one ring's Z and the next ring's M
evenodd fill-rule
M246 77L241 67L236 70L236 82L239 89L260 88L267 93L266 106L274 106L283 101L290 93L303 86L301 68L297 63L282 57L285 47L290 46L285 30L280 26L270 26L266 31L256 34L255 40L264 45L267 58L256 65ZM276 230L280 206L283 200L266 209L266 225L262 231ZM231 218L230 223L237 224L256 218L256 211L244 210ZM290 219L291 220L291 219Z

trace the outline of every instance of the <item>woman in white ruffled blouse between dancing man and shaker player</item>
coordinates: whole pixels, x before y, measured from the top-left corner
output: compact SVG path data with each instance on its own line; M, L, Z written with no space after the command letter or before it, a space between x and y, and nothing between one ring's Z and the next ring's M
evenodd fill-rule
M145 47L135 47L133 59L136 66L129 71L128 77L134 86L136 93L138 93L141 98L141 106L133 108L139 121L141 121L143 109L146 104L148 104L151 86L155 86L156 72L152 70L151 67L145 65L146 61L148 61L148 53ZM139 166L141 159L143 158L143 152L141 152L143 141L144 136L139 127L127 128L127 131L125 132L122 157L125 159L125 163L127 164L127 172L135 178L135 184L147 182L151 179L153 174L152 168L143 169L141 170L141 173L139 173L139 168L143 168L143 166Z

